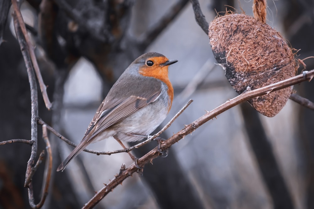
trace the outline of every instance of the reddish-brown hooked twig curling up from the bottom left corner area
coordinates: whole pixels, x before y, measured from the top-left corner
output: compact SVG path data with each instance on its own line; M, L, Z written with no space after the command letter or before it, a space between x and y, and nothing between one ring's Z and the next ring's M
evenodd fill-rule
M35 208L41 208L44 205L44 202L46 200L46 197L48 195L48 188L50 184L50 177L51 177L51 171L52 171L52 152L51 152L51 146L47 134L47 128L45 125L42 126L42 138L46 143L46 150L47 150L47 164L45 168L45 178L44 178L44 183L43 183L43 188L42 188L42 195L41 195L41 200L39 201L38 204L35 205L34 202L34 192L33 192L33 185L30 182L30 186L28 188L28 195L29 195L29 201L30 201L30 206L35 209Z

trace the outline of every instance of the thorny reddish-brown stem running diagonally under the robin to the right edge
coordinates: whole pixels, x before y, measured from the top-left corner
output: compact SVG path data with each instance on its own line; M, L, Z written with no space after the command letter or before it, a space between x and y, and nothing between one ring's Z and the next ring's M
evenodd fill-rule
M198 118L194 122L192 122L189 125L186 125L185 128L183 128L178 133L174 134L172 137L168 138L166 141L164 141L160 145L161 151L165 151L167 149L170 149L172 144L175 144L180 139L184 138L186 135L192 133L195 131L198 127L209 121L210 119L213 119L217 117L222 112L225 112L226 110L230 109L231 107L235 107L236 105L245 102L249 99L252 99L254 97L259 97L265 94L268 94L272 91L277 91L279 89L283 89L288 86L292 86L295 84L298 84L303 81L311 81L311 79L314 77L314 70L307 71L303 75L294 76L292 78L286 79L284 81L279 81L277 83L258 88L252 91L246 91L242 93L241 95L225 102L224 104L220 105L219 107L216 107L214 110L207 112L202 117ZM153 159L157 158L159 156L158 148L155 147L150 152L145 154L143 157L138 159L138 166L144 167L144 165L148 164L149 162L152 162ZM131 176L134 172L136 172L138 168L132 164L127 169L123 170L121 174L116 175L116 177L108 184L105 185L100 191L98 191L95 196L90 199L88 203L86 203L83 206L83 209L93 208L100 200L102 200L109 192L111 192L117 185L121 184L123 180L125 180L127 177Z

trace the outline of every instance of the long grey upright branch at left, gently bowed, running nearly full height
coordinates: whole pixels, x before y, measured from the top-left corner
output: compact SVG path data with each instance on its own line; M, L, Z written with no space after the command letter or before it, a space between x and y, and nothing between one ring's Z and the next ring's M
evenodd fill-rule
M14 1L16 4L16 1ZM17 4L16 4L17 6ZM24 186L27 187L28 184L28 176L31 173L32 167L35 163L35 158L37 154L37 118L38 118L38 94L37 94L37 85L36 79L34 74L34 68L30 59L29 51L27 50L27 44L25 43L25 39L22 33L22 29L18 22L18 18L15 14L13 14L14 19L14 29L16 37L19 41L19 45L21 48L21 52L24 58L28 80L30 82L30 99L31 99L31 140L33 141L32 150L30 154L30 159L27 162L26 173L25 173L25 184Z

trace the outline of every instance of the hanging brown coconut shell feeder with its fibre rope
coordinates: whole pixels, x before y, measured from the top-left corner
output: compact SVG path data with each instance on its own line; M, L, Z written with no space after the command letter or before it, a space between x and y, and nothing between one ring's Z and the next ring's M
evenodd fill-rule
M254 17L226 13L208 29L217 62L237 93L254 90L295 76L294 54L282 35L266 24L266 1L253 2ZM286 104L292 86L253 98L258 112L275 116Z

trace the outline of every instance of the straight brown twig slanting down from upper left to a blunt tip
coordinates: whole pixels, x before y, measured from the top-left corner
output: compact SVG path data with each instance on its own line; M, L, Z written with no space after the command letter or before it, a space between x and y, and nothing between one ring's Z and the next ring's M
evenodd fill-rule
M41 72L39 70L39 66L38 66L38 63L37 63L37 60L36 60L36 56L35 56L35 52L34 52L34 47L30 41L30 37L27 33L27 30L26 30L26 27L25 27L25 23L24 23L24 20L23 20L23 17L22 17L22 14L21 14L21 10L19 9L19 6L17 4L17 1L16 0L11 0L12 1L12 6L14 8L14 12L13 12L13 18L17 21L17 24L19 24L19 27L23 33L23 36L24 36L24 39L26 41L26 46L24 46L24 48L26 48L26 50L28 51L29 55L30 55L30 59L32 61L32 64L34 66L34 69L35 69L35 73L36 73L36 76L37 76L37 79L38 79L38 82L39 82L39 86L40 86L40 89L41 89L41 93L42 93L42 97L44 99L44 102L45 102L45 105L46 105L46 108L48 110L51 110L51 107L52 107L52 104L48 98L48 94L47 94L47 91L46 91L46 85L42 79L42 76L41 76Z

